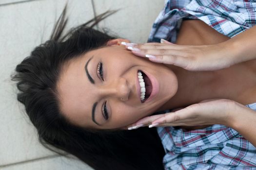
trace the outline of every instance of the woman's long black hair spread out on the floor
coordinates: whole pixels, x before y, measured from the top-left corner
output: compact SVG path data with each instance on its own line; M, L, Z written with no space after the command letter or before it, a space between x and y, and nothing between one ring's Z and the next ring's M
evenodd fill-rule
M62 66L116 38L92 28L115 12L102 13L62 35L68 20L65 6L50 40L36 47L11 75L20 90L17 99L24 104L40 143L51 151L71 153L95 170L163 170L164 150L156 128L85 129L70 123L59 110L56 83Z

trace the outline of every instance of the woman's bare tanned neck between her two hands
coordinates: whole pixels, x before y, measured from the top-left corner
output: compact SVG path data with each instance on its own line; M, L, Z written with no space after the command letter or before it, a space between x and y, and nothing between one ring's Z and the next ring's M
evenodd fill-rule
M188 71L173 65L168 67L177 76L178 89L158 111L187 107L206 99L230 99L241 104L255 102L240 97L246 96L245 87L252 89L255 86L255 82L245 78L244 64L215 71Z

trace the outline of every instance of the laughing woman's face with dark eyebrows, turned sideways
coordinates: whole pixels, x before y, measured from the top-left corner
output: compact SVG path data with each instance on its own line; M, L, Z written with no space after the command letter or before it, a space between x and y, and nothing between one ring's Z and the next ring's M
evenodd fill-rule
M100 63L104 81L97 71ZM151 101L140 101L138 70L152 76L159 86ZM165 65L114 45L89 51L66 64L57 89L60 110L72 123L85 128L116 129L159 111L176 94L177 77Z

